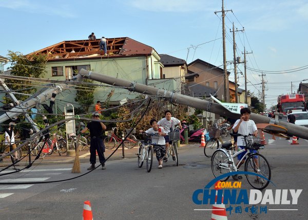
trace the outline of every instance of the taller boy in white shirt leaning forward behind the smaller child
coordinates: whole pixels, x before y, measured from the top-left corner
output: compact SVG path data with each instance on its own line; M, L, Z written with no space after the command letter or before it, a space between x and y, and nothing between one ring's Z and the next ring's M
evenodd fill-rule
M177 118L172 117L171 112L169 110L165 111L165 118L159 120L157 123L159 126L162 126L165 129L167 134L170 131L173 131L176 125L179 125L180 129L182 129L181 121ZM166 140L166 152L168 152L169 144L171 144L172 142L169 141L168 135L165 136L165 140ZM172 152L172 159L176 160L174 152ZM168 158L165 156L164 162L167 162L167 161L168 161Z

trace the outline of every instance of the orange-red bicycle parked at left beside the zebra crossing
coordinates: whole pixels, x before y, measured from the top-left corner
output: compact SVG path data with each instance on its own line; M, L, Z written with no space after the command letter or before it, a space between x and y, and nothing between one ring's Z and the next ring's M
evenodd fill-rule
M38 152L40 152L42 148L43 150L41 152L40 158L44 158L46 155L51 155L53 152L59 153L59 155L61 156L61 154L64 154L67 151L66 140L65 139L57 140L57 136L54 133L52 135L51 142L50 139L48 139L47 141L40 142L37 144L36 154L38 154Z

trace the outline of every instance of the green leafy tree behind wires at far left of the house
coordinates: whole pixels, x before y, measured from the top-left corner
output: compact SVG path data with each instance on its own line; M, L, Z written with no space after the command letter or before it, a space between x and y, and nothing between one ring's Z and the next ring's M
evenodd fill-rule
M25 57L21 52L13 52L9 50L8 58L12 62L11 67L8 69L11 70L11 75L13 76L40 78L46 72L47 57L45 54L33 54L29 57ZM9 79L5 82L12 90L31 88L32 86L32 82L26 80ZM33 94L35 91L36 89L33 87L31 89L22 90L21 93ZM28 96L19 94L15 94L15 97L22 101L28 98ZM5 98L5 102L8 103L10 100Z

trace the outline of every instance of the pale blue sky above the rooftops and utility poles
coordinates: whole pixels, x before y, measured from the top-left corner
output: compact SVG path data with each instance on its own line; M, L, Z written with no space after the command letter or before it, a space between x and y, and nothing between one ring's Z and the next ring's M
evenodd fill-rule
M265 71L267 106L277 103L277 96L291 93L301 80L308 79L307 69L284 70L308 65L306 42L308 1L306 0L225 0L227 60L233 60L232 28L236 33L237 56L247 52L247 67ZM1 0L0 55L8 50L24 54L65 40L128 36L190 63L201 59L221 66L222 24L219 0L113 0L113 1L38 1ZM208 43L207 43L208 42ZM188 50L189 48L189 50ZM243 64L239 71L244 72ZM227 67L234 81L233 65ZM260 72L247 70L248 89L258 97ZM308 83L308 81L306 82ZM244 80L240 75L240 88ZM252 85L254 84L254 86Z

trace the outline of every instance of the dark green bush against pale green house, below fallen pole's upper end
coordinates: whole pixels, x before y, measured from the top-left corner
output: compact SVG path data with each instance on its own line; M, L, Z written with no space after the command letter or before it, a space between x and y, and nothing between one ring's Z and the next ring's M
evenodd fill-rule
M93 80L84 79L82 83L75 86L77 91L74 100L81 105L81 107L76 109L76 114L88 113L90 105L94 103L93 94L96 86L90 85L89 83L93 83Z

